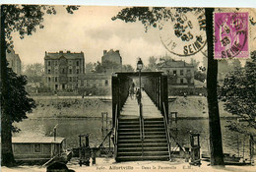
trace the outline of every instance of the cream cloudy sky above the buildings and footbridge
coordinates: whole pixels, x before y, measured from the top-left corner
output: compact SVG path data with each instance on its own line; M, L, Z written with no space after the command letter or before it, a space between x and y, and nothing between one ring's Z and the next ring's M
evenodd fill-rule
M112 21L111 18L122 8L81 6L78 11L70 15L63 6L56 6L57 15L44 16L44 29L36 29L36 32L25 36L24 39L20 39L19 35L14 33L14 49L25 65L43 64L45 51L61 50L83 51L86 63L100 61L103 50L119 50L123 64L131 64L133 67L138 57L141 57L147 65L150 56L160 57L166 54L177 60L190 61L192 57L202 61L201 52L182 58L169 53L160 41L159 29L151 28L145 32L140 22ZM255 32L253 32L254 37L256 37ZM252 44L253 47L256 46L255 39Z

